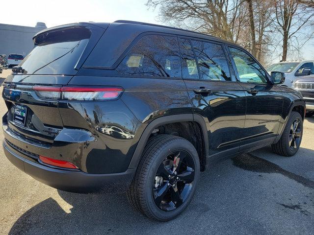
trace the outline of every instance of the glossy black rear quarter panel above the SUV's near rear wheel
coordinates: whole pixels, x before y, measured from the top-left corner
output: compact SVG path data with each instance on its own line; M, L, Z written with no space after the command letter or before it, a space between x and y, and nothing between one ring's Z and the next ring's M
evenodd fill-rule
M87 172L95 172L97 168L103 169L98 173L127 170L148 123L163 116L192 114L192 105L181 79L74 76L69 85L86 83L125 89L121 98L115 101L59 103L64 126L88 129L99 140L90 146L82 144L78 149L85 152L82 161L86 162ZM124 137L112 135L110 130L106 132L104 128L108 126L120 128Z

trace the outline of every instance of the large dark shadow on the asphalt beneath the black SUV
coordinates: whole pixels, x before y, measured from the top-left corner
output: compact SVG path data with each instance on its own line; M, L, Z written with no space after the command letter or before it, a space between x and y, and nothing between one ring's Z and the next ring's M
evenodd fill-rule
M276 172L275 164L268 166L271 170L259 170L259 165L267 161L264 158L243 154L237 161L241 156L244 161L240 167L229 159L202 173L191 204L172 221L159 223L133 211L125 193L78 194L58 190L61 198L73 206L70 213L48 198L26 211L9 234L312 233L314 188L287 177L287 172ZM294 164L297 161L302 158L295 158Z

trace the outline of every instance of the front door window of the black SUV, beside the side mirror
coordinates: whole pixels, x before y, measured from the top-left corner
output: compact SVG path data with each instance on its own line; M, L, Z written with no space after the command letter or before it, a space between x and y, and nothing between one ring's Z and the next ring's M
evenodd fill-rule
M241 82L267 83L264 71L252 56L232 47L230 47L230 51Z

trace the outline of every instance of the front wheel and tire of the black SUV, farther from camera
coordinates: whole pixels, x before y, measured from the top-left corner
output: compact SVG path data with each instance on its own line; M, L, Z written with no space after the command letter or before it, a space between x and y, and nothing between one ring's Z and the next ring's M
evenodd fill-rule
M294 124L299 121L296 125L297 134L293 134ZM298 112L292 111L288 122L285 126L284 132L280 138L280 140L272 144L272 150L278 154L285 157L293 156L299 150L303 135L303 120L301 115Z

